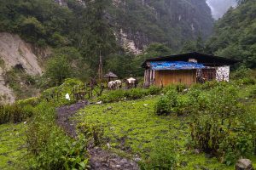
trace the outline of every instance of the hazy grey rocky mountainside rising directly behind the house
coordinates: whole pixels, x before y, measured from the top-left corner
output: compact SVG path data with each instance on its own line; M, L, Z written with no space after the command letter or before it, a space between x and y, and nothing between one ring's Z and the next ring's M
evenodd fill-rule
M212 33L211 9L204 0L121 0L113 4L110 14L115 30L131 48L162 42L179 49L185 41Z

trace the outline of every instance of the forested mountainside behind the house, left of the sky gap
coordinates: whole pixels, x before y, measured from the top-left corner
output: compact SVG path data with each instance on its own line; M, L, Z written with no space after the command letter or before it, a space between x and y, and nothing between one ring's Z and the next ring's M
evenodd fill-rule
M36 51L50 51L39 59L39 88L67 77L97 77L100 56L103 72L141 76L145 57L177 52L188 40L207 38L212 26L205 0L0 0L0 31L18 34ZM154 42L161 44L148 47Z

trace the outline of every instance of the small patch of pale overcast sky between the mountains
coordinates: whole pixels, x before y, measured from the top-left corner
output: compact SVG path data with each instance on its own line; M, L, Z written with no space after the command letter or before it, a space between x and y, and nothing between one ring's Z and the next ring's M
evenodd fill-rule
M236 6L236 0L207 0L208 5L212 8L214 19L222 17L231 6Z

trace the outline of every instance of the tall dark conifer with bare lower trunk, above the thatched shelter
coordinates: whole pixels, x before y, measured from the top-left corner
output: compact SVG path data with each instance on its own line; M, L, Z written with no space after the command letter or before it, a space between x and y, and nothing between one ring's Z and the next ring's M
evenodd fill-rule
M106 13L106 9L112 3L109 0L87 0L85 3L86 25L82 46L84 57L90 62L90 67L95 69L100 65L99 70L102 74L102 64L108 54L117 49L116 38Z

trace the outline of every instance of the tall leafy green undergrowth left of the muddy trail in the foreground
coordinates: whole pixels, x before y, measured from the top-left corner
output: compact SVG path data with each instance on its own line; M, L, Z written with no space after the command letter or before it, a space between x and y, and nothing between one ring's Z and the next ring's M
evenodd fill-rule
M32 169L85 169L86 140L68 138L55 125L55 107L41 103L36 107L26 131L26 144L31 154Z

